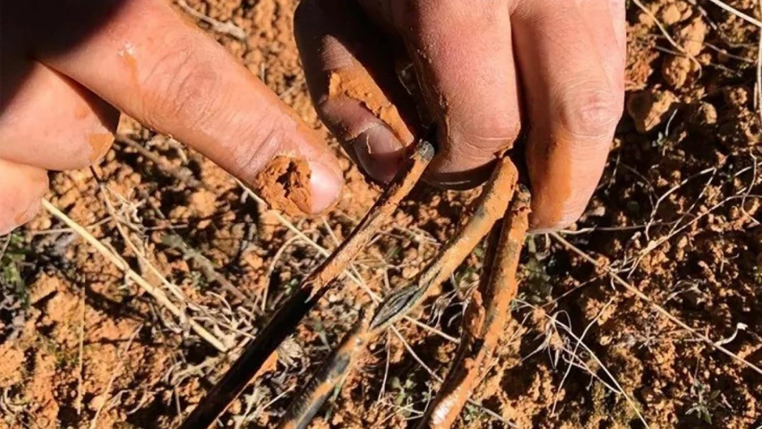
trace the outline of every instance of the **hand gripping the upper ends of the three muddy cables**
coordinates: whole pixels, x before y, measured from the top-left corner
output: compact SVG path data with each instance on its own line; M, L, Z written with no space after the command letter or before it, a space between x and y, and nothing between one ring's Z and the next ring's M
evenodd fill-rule
M578 219L600 180L623 110L624 11L624 0L303 0L295 31L319 115L376 180L420 133L416 105L437 126L427 179L443 187L483 181L523 117L541 230ZM398 78L405 56L420 91Z

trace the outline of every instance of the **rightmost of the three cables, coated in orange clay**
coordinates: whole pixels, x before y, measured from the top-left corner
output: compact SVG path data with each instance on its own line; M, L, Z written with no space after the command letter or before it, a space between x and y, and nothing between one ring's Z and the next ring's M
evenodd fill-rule
M482 281L463 316L463 335L442 388L421 420L419 428L447 429L451 427L471 396L472 390L485 376L490 358L504 334L510 315L511 299L516 296L516 270L521 246L529 227L530 195L519 190L506 214L500 239L495 246L491 239L486 264L490 275ZM498 235L497 231L492 235ZM491 263L490 263L491 261Z

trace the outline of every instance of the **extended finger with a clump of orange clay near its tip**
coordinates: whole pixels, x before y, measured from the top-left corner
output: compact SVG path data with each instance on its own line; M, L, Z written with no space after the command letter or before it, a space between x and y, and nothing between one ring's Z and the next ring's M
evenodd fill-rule
M61 9L35 29L47 66L197 149L280 209L319 213L338 198L341 169L325 142L166 2L45 4ZM97 25L72 36L83 15Z

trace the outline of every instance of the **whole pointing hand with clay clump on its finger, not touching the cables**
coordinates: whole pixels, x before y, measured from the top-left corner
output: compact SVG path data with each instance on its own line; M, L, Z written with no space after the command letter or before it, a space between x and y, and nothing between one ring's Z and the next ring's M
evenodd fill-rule
M37 213L46 170L105 155L118 110L255 187L275 157L305 160L309 174L287 173L299 189L269 195L286 208L319 212L341 191L325 143L168 2L8 2L0 38L0 235Z

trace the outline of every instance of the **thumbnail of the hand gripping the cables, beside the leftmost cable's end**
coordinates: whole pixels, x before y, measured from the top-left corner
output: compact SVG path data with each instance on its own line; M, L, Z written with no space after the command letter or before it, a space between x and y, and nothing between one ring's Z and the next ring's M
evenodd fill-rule
M402 161L403 146L389 128L381 124L371 126L352 140L357 161L371 178L387 182Z

